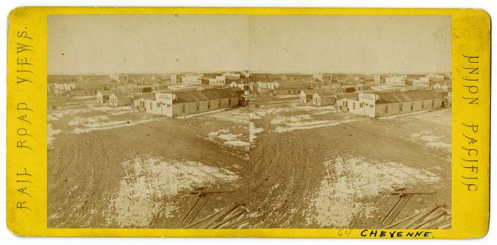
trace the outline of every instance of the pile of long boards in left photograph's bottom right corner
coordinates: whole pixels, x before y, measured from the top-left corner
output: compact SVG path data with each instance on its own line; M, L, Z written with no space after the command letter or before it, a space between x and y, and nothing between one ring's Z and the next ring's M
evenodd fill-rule
M183 229L239 229L249 224L249 210L244 204L233 204Z

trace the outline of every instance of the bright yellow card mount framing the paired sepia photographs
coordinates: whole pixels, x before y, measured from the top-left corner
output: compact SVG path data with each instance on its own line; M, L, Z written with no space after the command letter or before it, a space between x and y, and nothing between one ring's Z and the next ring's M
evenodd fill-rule
M417 238L480 238L488 231L490 208L491 40L490 17L483 10L433 8L20 7L13 9L8 16L7 41L6 216L7 226L14 235L48 237L374 238L369 235L362 236L371 233L371 230L364 232L362 229L47 229L47 15L51 14L451 15L453 76L452 229L423 230L425 233ZM32 66L23 65L23 63L29 63ZM478 69L474 70L474 68ZM470 73L472 71L473 73ZM25 121L29 121L29 123ZM465 126L463 123L466 125L478 125L478 128ZM20 135L25 134L24 129L32 136ZM476 129L478 130L475 132L474 130ZM477 141L472 141L470 138ZM30 149L21 146L29 146ZM478 167L478 169L475 167ZM21 193L20 189L22 188L26 188L24 191L29 193L31 197ZM29 209L26 209L26 207ZM391 238L390 232L394 232L378 230L376 238L379 238L382 231L386 232L386 236L381 238ZM404 239L407 238L407 232L416 231L419 230L396 230L394 238ZM399 232L402 232L402 237L398 237Z

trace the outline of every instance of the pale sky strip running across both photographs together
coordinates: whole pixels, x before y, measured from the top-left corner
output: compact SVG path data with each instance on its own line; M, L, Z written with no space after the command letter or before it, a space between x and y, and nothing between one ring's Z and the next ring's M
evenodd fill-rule
M449 15L49 15L48 73L451 70Z

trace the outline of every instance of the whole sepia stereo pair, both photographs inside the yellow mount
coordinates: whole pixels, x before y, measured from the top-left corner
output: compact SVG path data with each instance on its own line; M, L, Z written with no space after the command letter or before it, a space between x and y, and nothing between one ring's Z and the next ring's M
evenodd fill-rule
M47 21L48 228L451 228L450 15Z

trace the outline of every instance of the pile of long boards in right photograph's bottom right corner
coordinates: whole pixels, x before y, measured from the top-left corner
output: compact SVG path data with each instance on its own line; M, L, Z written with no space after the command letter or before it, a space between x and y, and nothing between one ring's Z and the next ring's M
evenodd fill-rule
M444 206L427 208L384 229L447 229L451 226L451 214Z

